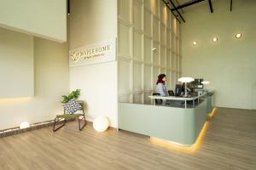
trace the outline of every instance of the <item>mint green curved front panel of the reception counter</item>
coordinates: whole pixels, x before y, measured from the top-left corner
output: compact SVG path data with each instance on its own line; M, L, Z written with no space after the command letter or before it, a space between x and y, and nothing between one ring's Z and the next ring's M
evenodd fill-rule
M207 99L195 108L119 103L119 129L194 144L207 120Z

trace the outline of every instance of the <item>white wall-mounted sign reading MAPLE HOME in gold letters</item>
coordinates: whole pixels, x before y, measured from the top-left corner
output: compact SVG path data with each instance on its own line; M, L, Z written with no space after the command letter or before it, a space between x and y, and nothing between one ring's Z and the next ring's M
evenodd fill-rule
M92 65L116 59L115 38L69 51L69 67Z

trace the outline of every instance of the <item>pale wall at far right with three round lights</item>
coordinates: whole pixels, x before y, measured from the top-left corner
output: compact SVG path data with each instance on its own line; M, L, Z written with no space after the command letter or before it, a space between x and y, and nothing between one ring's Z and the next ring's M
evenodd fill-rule
M183 76L203 77L220 107L256 109L256 1L215 1L186 8L182 25ZM236 33L242 34L236 39ZM218 42L212 42L218 37ZM198 45L193 46L192 42Z

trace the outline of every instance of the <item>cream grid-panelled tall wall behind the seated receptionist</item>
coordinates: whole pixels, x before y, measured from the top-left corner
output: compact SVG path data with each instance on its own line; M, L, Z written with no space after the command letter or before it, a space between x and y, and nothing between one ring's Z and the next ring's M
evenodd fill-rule
M119 102L149 104L160 73L168 89L180 75L179 23L162 0L119 0L118 21Z

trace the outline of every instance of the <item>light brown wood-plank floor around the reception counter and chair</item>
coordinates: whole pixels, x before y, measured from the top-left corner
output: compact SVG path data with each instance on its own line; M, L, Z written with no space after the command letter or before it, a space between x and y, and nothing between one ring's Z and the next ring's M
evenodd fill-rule
M256 169L256 111L218 108L195 150L77 122L0 139L0 169Z

